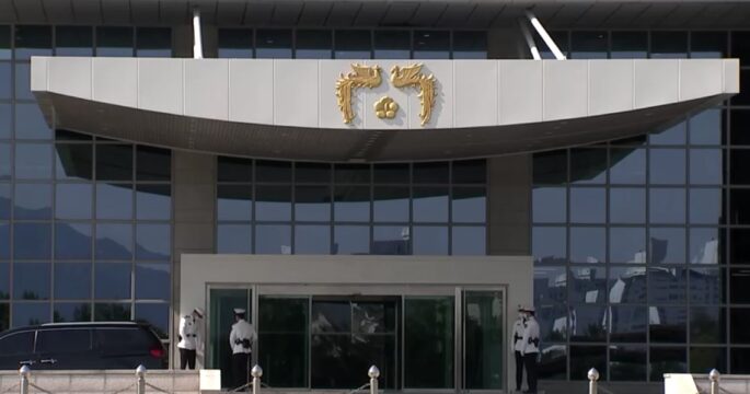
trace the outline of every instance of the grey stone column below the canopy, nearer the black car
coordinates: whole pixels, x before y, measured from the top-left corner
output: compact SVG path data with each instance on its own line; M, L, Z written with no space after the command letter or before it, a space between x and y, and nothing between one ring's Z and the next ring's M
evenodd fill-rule
M177 331L180 316L191 313L194 308L206 309L206 305L181 305L180 268L182 255L212 254L216 223L216 157L211 154L172 151L174 236L172 247L172 360L173 367L180 367L177 351ZM201 290L203 291L203 290ZM206 323L206 322L204 322ZM206 327L204 327L205 329ZM205 333L205 331L204 331ZM205 339L205 338L204 338ZM198 366L203 355L198 354Z

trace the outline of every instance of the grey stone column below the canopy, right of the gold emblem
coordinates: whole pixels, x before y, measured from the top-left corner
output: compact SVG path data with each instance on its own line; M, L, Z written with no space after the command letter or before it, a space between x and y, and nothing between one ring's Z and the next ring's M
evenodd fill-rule
M531 255L531 162L528 153L487 160L491 255Z

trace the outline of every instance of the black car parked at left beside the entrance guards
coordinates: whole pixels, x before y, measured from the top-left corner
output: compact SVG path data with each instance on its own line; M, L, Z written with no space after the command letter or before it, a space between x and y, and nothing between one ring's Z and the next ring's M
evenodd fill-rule
M0 370L168 367L166 350L140 323L54 323L0 334Z

